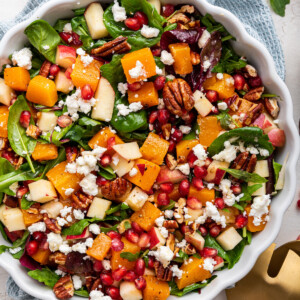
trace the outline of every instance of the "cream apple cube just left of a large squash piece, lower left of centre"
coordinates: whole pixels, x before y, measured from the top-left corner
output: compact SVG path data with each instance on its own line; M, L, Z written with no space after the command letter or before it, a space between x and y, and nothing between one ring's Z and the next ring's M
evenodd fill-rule
M57 194L53 184L45 179L40 179L29 183L30 199L32 201L46 203L57 199Z

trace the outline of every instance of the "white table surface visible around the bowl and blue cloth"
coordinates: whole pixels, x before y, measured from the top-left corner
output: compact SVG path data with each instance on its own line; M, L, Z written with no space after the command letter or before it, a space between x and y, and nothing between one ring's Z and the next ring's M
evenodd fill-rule
M0 20L11 19L22 10L27 0L0 0ZM249 0L251 2L251 0ZM286 83L292 94L294 102L294 120L299 122L300 102L299 102L299 82L300 82L300 1L292 0L287 6L285 18L281 18L273 13L273 19L277 33L280 37L285 60L286 60ZM300 162L298 161L298 170ZM299 172L297 174L299 177ZM294 202L285 213L282 228L277 236L277 245L282 245L294 240L300 234L300 210L296 208L296 202L300 198L300 189L297 190ZM5 291L5 283L8 274L0 268L0 299L12 300ZM225 292L221 293L214 300L226 300Z

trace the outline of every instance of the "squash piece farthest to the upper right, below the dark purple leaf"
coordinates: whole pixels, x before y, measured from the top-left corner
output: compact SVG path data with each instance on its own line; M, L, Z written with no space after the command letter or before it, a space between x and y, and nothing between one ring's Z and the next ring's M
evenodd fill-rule
M223 78L218 79L216 74L206 79L203 83L205 90L213 90L218 92L219 99L227 99L234 95L234 79L229 75L223 73Z

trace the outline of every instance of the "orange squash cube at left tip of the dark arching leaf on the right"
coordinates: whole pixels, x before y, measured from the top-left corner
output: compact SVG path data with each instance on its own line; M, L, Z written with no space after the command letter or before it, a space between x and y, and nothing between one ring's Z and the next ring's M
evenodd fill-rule
M198 124L200 127L199 143L202 146L209 147L210 144L218 137L224 129L215 116L207 116L202 118L198 116Z

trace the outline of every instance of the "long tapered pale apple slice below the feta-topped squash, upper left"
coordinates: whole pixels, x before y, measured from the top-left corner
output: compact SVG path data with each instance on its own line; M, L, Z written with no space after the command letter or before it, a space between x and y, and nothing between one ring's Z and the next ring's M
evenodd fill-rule
M100 78L94 98L96 104L92 111L92 118L109 122L114 110L115 91L104 77Z

